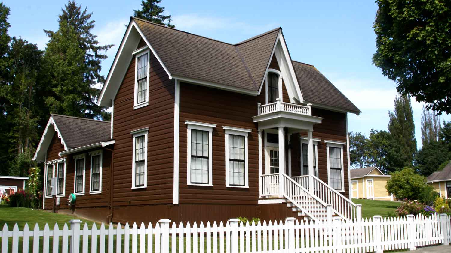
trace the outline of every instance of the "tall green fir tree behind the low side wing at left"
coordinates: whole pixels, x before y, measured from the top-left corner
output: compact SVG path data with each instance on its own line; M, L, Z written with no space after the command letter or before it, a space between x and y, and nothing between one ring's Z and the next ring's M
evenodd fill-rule
M75 1L65 4L58 17L58 30L45 30L50 38L45 53L50 84L46 103L53 113L108 120L106 108L96 104L100 90L95 85L105 81L100 64L113 45L99 45L92 34L92 13Z

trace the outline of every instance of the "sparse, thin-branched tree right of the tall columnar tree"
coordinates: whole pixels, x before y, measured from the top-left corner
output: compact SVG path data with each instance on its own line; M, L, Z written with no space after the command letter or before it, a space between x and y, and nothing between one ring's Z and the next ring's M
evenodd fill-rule
M436 115L435 111L426 110L423 106L421 115L421 142L423 146L429 142L438 142L441 129L440 116Z

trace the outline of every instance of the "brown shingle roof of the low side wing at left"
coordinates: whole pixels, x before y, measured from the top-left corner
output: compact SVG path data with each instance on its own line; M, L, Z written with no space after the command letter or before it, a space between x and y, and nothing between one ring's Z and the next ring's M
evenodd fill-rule
M110 140L110 121L51 114L68 149Z

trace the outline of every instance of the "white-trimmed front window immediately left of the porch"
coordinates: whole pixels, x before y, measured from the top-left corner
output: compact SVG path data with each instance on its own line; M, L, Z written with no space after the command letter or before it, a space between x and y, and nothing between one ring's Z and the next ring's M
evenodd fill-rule
M223 126L226 132L226 186L249 187L248 134L250 129Z

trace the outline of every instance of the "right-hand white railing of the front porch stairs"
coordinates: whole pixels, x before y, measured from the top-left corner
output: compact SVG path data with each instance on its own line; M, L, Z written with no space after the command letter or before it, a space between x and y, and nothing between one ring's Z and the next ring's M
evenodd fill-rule
M362 205L354 204L340 192L314 175L310 175L309 178L313 180L314 194L326 204L331 204L332 212L341 216L346 221L360 220L362 218Z

